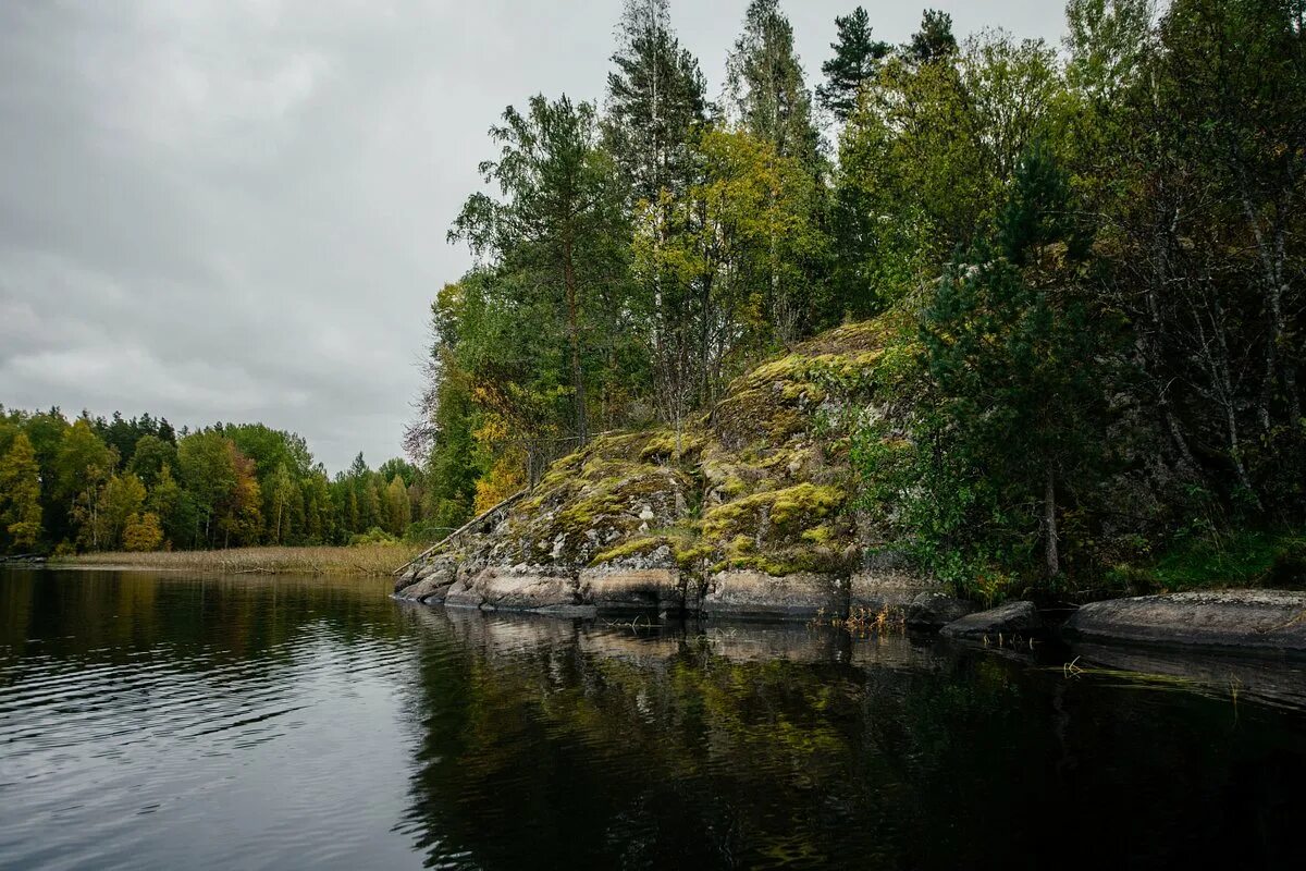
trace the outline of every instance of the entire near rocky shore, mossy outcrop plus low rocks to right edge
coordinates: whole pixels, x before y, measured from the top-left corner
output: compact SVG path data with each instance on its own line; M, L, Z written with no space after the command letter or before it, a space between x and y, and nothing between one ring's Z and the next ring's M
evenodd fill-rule
M414 563L394 594L479 611L696 620L901 619L1004 648L1059 636L1306 652L1306 593L974 612L913 573L857 500L848 422L888 414L889 324L848 324L739 376L684 427L596 436ZM1296 622L1294 622L1296 620Z

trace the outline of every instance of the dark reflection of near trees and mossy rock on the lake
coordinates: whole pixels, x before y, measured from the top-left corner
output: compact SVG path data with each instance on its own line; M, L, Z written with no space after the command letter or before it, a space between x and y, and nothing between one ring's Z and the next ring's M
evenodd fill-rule
M1303 810L1299 718L1188 693L900 636L410 619L432 866L1273 864Z

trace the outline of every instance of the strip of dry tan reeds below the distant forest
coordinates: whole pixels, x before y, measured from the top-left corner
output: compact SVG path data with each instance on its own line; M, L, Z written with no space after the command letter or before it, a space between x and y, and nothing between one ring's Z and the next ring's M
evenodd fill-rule
M351 547L232 547L212 551L94 552L50 560L56 568L136 568L221 575L385 576L424 550L421 545Z

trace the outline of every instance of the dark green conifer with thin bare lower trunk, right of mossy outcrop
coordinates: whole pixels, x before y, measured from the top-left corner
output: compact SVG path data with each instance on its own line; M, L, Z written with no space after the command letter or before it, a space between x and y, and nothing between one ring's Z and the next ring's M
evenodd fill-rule
M1015 568L1038 541L1041 573L1054 578L1067 494L1088 491L1101 458L1105 337L1079 282L1089 240L1070 218L1066 172L1036 146L1013 187L991 239L925 312L939 396L922 443L946 445L935 453L960 475L934 478L931 499L952 518L939 541Z

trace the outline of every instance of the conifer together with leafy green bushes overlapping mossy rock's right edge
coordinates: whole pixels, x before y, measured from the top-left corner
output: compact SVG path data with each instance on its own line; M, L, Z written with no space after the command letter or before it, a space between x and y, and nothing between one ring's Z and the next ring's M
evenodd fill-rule
M1058 525L1077 508L1066 494L1091 492L1106 461L1100 355L1110 336L1080 286L1087 238L1070 196L1064 172L1032 149L993 242L953 265L922 312L929 392L916 398L909 440L882 423L854 449L863 499L896 513L922 567L989 601L1038 575L1057 582Z

